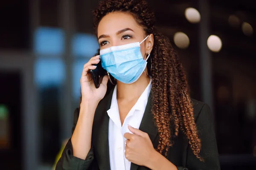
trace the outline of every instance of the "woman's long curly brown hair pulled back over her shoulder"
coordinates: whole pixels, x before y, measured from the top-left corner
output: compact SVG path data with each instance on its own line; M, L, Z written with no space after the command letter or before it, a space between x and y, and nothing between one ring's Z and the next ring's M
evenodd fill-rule
M151 113L159 134L156 150L167 156L169 147L173 145L171 138L178 136L181 130L186 135L194 155L200 161L204 161L200 156L201 139L198 137L195 124L186 73L170 40L154 28L154 12L148 8L145 0L101 1L98 8L93 11L96 34L102 17L115 11L131 14L145 34L154 35L154 46L150 57L152 63ZM171 124L174 125L172 130Z

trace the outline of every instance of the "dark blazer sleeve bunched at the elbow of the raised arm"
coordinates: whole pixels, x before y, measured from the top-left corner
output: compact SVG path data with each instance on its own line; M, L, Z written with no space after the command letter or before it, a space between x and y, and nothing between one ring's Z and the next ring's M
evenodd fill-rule
M76 108L74 112L72 134L75 130L78 116L79 108ZM61 158L56 164L55 170L90 170L90 165L93 161L93 158L93 146L90 148L85 160L73 156L73 146L70 138L61 154Z

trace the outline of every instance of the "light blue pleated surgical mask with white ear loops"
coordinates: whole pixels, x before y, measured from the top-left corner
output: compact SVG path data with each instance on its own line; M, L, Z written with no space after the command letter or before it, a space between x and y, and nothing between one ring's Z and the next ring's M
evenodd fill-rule
M144 42L148 38L142 41ZM140 44L134 42L125 45L112 46L101 50L100 59L102 67L120 82L131 84L139 79L147 66L147 59L143 59L140 52Z

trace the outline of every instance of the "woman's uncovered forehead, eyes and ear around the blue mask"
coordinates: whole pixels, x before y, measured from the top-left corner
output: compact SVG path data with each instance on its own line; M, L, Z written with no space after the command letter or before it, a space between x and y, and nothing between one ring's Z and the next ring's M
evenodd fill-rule
M131 14L111 12L99 22L97 36L102 50L111 46L141 42L147 35ZM146 54L151 52L153 41L153 35L150 34L147 40L140 45L140 51L144 59Z

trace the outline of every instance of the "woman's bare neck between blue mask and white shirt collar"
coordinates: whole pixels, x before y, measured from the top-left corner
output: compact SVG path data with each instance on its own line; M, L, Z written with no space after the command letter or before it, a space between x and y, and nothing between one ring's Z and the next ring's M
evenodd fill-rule
M143 73L140 78L131 84L125 84L117 80L116 99L138 99L150 82L150 77Z

